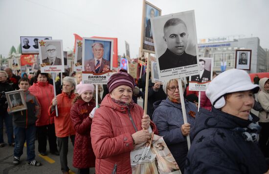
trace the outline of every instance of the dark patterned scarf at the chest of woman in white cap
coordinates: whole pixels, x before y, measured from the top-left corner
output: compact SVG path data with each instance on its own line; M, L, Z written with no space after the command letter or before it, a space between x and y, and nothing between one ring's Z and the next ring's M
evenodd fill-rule
M245 141L251 141L253 143L257 143L259 141L259 133L261 131L261 127L258 122L252 121L252 116L249 114L248 120L251 121L247 128L234 128L233 131L240 132L245 139Z

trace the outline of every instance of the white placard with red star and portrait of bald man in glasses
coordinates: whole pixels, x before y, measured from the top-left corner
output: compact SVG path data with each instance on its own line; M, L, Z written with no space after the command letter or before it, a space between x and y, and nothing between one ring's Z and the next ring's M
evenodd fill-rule
M62 40L39 41L41 72L65 72Z

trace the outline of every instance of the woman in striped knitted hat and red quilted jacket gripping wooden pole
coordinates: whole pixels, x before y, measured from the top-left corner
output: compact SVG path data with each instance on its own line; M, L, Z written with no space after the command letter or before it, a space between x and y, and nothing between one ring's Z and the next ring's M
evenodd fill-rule
M96 174L132 174L130 152L146 142L150 118L132 100L134 78L125 72L113 74L109 94L96 109L91 125L91 143L96 156Z

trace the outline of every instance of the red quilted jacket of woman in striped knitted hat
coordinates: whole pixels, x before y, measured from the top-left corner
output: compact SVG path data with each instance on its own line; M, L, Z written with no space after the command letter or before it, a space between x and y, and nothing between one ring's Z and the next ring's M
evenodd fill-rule
M91 144L96 156L96 174L132 174L130 152L134 149L132 134L142 130L144 110L137 104L121 106L107 94L96 109L91 125ZM133 123L131 121L133 120ZM153 123L152 123L153 124ZM153 131L157 132L153 124Z

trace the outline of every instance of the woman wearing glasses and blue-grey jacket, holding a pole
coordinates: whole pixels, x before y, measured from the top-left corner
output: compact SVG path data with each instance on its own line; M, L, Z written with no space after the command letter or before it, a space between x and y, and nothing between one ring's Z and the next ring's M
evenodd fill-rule
M182 81L182 84L184 82ZM185 84L182 87L185 89ZM184 124L180 103L178 79L172 79L163 83L163 90L167 94L166 100L154 103L153 122L157 125L160 136L173 154L179 165L181 173L184 173L185 160L188 152L185 136L190 134L191 125L194 123L197 107L185 100L187 124Z

